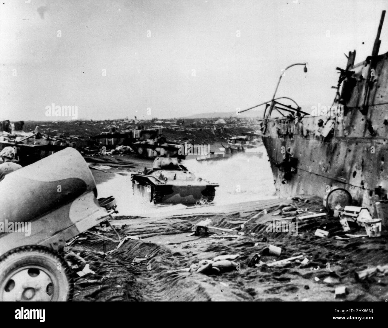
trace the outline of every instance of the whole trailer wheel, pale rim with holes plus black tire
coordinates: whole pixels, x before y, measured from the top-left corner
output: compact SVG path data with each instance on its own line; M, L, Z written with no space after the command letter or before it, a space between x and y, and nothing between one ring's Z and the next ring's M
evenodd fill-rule
M0 257L0 301L71 301L66 261L43 246L23 246Z

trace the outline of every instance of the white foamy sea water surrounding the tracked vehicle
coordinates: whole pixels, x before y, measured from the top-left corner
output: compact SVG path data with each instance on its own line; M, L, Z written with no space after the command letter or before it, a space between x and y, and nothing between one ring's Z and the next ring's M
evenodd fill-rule
M239 153L226 160L197 161L188 158L182 164L197 177L201 177L220 186L216 187L215 205L236 204L247 201L258 201L275 198L274 178L268 161L267 151L260 146L263 156L245 155ZM150 167L151 167L150 162ZM119 215L148 216L171 215L171 213L187 208L183 204L154 205L132 194L130 172L127 175L117 174L117 170L110 169L109 173L95 172L98 197L113 196L117 202ZM133 172L137 172L134 169ZM103 178L101 178L103 175Z

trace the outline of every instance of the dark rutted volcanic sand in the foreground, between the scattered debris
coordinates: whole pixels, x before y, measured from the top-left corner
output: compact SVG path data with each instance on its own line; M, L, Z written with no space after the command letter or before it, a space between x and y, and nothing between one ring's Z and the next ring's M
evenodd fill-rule
M388 299L388 275L374 276L362 283L354 278L355 270L388 263L386 237L336 240L334 235L344 236L344 233L338 220L329 216L300 222L295 236L265 232L265 222L275 217L269 213L244 227L244 235L237 240L187 237L192 224L205 218L210 218L213 226L234 228L262 208L270 207L268 211L274 211L277 208L274 204L274 201L262 201L255 209L251 203L250 206L230 206L225 210L229 213L222 215L159 219L117 216L115 223L120 227L121 236L139 235L142 240L127 240L120 249L107 255L102 253L102 240L89 234L82 235L88 239L66 247L66 250L79 252L95 271L95 275L76 278L74 301L333 301L336 285L323 282L330 273L328 263L330 270L339 276L339 285L348 288L346 301ZM295 204L314 212L322 208L318 198L307 204ZM323 227L329 230L329 237L315 237L315 230ZM115 238L112 231L101 233ZM365 230L352 228L350 233L365 234ZM257 242L258 246L255 246ZM249 268L249 258L268 244L282 247L282 253L264 256L262 259L267 263L300 254L310 262L302 265L300 261L293 261L279 267ZM116 245L107 241L106 251ZM223 254L240 254L236 260L240 270L209 276L177 271L201 259ZM133 265L135 256L147 256L149 261ZM319 282L315 282L314 277L320 278Z

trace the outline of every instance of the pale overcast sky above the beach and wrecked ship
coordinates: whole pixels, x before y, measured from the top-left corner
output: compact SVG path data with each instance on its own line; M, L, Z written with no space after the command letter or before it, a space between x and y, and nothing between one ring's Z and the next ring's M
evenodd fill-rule
M52 103L88 119L242 110L296 62L308 72L289 69L277 95L331 105L343 53L371 54L387 1L294 2L1 0L0 119L58 120Z

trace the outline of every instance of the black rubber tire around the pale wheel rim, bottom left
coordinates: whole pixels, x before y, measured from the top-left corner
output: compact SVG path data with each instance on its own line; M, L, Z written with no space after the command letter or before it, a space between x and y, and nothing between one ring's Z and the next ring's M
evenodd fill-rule
M52 301L71 301L74 282L68 263L58 253L38 245L18 247L0 257L0 301L3 301L9 278L24 267L34 266L43 268L50 276L53 283Z

